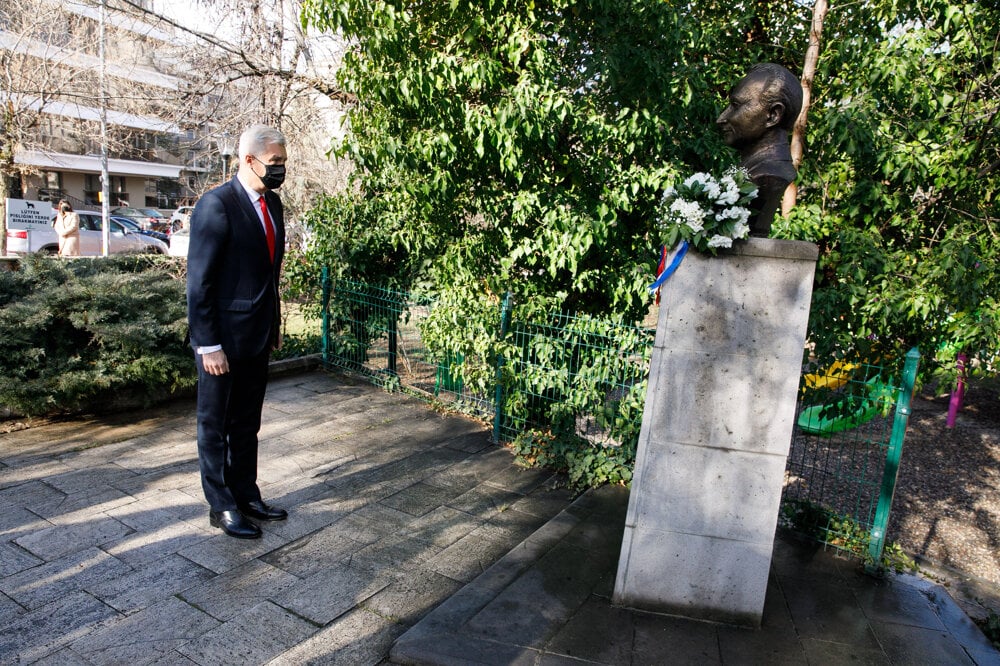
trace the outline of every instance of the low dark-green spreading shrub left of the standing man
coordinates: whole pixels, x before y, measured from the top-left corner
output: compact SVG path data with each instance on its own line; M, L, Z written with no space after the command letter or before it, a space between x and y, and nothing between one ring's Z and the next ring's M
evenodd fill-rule
M29 256L0 274L0 405L25 415L148 404L195 385L183 266Z

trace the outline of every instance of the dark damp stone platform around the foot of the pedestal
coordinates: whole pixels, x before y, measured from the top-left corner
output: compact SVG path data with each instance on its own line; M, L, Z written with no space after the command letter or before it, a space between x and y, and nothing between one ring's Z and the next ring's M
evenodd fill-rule
M781 536L759 630L614 607L627 502L622 488L581 496L403 634L392 662L1000 664L940 586Z

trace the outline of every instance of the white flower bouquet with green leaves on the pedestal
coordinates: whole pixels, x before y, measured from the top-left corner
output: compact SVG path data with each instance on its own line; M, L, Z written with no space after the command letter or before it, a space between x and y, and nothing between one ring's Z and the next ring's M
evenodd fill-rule
M750 209L757 186L746 169L733 167L721 178L696 173L676 187L668 187L660 201L663 245L674 248L686 241L696 250L716 254L750 234Z

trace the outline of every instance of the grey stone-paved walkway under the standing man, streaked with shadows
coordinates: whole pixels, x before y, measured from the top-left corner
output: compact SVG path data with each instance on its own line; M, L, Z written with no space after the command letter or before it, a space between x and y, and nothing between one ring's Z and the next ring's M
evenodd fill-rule
M376 664L570 503L481 424L339 375L272 381L264 538L208 525L193 401L0 435L0 661Z

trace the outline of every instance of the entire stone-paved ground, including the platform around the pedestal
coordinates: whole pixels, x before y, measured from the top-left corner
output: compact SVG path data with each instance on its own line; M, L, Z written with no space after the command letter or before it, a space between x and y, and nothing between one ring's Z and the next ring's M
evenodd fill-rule
M259 541L208 525L193 401L0 435L0 663L1000 664L942 588L782 539L760 631L615 609L626 491L412 397L310 372L264 424Z

